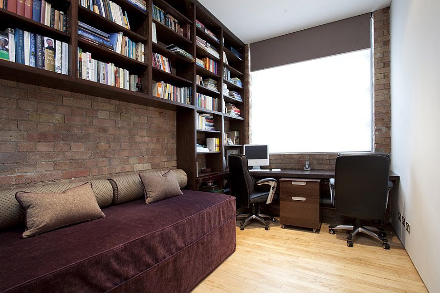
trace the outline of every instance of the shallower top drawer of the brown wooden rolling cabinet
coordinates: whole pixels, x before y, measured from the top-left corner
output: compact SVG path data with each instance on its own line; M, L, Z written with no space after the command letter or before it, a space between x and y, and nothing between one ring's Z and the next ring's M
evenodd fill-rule
M320 179L280 179L280 195L319 199Z

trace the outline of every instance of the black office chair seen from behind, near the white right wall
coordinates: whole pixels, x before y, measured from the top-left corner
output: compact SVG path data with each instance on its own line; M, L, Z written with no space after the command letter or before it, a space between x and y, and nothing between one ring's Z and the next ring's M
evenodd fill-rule
M329 226L330 234L336 229L351 230L347 246L352 247L352 238L362 232L382 242L390 249L386 234L377 228L361 226L363 220L383 220L388 204L390 160L383 155L356 154L336 158L335 178L332 190L336 213L354 218L354 225ZM375 232L377 233L375 233Z

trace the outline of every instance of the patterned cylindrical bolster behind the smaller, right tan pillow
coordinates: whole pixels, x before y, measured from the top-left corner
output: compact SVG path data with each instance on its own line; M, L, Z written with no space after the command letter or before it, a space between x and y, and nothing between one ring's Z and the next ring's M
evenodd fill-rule
M149 170L142 173L162 176L166 172L168 172L168 169ZM185 171L176 169L173 172L176 174L180 189L184 188L188 183ZM144 197L144 187L138 173L113 177L109 181L113 187L113 204L122 204Z

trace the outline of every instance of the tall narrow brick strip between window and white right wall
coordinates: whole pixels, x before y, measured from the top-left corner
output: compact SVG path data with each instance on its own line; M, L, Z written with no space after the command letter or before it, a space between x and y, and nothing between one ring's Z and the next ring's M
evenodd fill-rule
M390 7L374 11L374 150L391 152Z

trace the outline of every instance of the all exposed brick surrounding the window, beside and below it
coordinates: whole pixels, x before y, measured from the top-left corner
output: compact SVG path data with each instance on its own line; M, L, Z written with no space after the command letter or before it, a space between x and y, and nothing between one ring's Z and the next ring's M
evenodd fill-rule
M375 11L374 19L374 152L391 152L391 99L390 99L390 9ZM249 57L250 58L250 57ZM251 80L249 78L249 83ZM246 101L252 105L252 96ZM252 117L246 121L251 128ZM313 169L333 170L336 153L271 154L270 168L302 169L308 160Z

